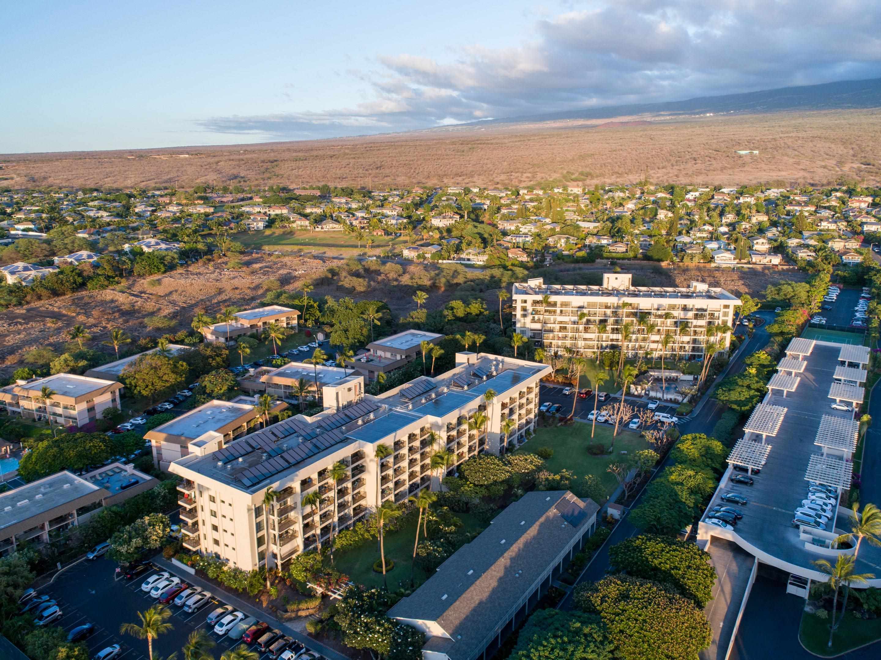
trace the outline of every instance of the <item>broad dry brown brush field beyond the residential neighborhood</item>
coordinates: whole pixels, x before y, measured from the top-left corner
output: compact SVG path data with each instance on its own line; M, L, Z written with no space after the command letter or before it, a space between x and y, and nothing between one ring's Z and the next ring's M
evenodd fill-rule
M389 187L650 180L743 185L881 181L881 110L557 121L167 150L7 155L11 187L196 183ZM636 125L633 125L636 124ZM736 150L759 150L738 156ZM185 156L183 156L185 155Z

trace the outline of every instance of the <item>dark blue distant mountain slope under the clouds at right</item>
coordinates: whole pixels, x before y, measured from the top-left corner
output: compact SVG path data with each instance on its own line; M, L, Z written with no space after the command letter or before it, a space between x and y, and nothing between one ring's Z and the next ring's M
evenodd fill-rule
M881 107L881 78L841 80L837 83L781 87L761 92L702 96L684 101L604 106L565 113L535 114L460 126L535 123L541 121L595 120L638 115L676 116L707 113L769 113L792 110L852 110Z

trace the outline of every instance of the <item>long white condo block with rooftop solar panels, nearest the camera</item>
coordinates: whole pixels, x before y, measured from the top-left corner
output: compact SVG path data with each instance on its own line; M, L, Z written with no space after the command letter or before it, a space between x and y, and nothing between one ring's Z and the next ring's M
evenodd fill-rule
M499 454L525 442L538 381L551 368L470 352L457 353L455 364L437 378L417 378L341 410L298 414L223 449L190 444L189 456L169 466L184 478L184 546L241 568L283 564L378 502L437 487L434 452L450 452L453 472L478 452ZM381 459L379 445L389 451ZM334 481L337 464L344 476ZM266 506L268 491L276 499ZM310 505L312 493L320 500Z

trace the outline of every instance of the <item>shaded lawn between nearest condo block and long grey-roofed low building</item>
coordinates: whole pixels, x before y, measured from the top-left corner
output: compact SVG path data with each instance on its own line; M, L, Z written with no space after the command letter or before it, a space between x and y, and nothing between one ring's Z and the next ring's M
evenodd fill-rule
M462 532L482 532L485 524L468 513L457 513L456 517L462 520ZM393 568L387 577L389 590L396 590L399 586L410 589L410 565L413 557L413 543L416 540L416 523L418 518L413 519L400 530L392 534L386 534L384 545L386 561L395 561ZM422 533L419 532L419 539ZM353 583L363 584L368 589L382 586L382 574L374 572L374 561L380 558L379 543L376 539L345 552L337 552L335 566L337 570L352 578ZM428 579L428 574L420 568L416 568L413 574L416 586Z

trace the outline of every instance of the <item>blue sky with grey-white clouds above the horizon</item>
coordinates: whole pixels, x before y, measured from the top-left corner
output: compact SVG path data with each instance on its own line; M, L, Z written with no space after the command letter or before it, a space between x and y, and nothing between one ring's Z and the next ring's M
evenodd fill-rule
M0 62L0 153L307 140L881 77L881 0L37 0Z

